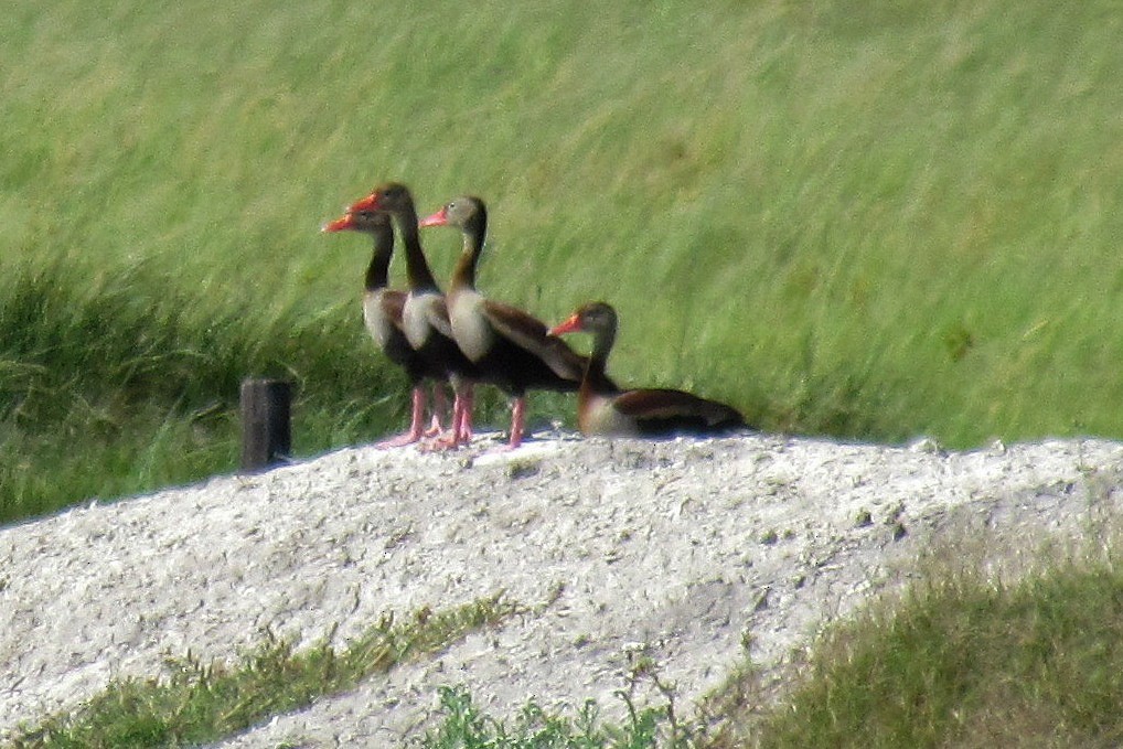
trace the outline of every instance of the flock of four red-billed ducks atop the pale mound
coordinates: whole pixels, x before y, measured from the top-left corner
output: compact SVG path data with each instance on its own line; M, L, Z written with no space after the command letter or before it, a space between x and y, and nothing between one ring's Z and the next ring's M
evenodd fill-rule
M447 292L441 292L421 249L419 229L449 226L464 234L464 252ZM408 290L389 287L394 228L405 252ZM605 371L617 334L615 310L605 302L583 305L554 328L509 304L484 298L475 287L476 264L487 232L487 208L480 198L456 198L418 220L410 190L398 182L380 185L323 226L323 231L372 235L374 252L366 271L363 319L382 351L401 366L412 386L412 419L407 432L383 447L424 440L432 448L455 448L472 439L476 384L495 385L513 399L509 446L522 442L526 399L531 390L577 392L577 423L584 435L670 437L722 433L746 427L741 414L691 393L667 389L621 389ZM593 336L590 356L559 338ZM442 383L454 393L451 423ZM432 384L432 420L426 421L426 385Z

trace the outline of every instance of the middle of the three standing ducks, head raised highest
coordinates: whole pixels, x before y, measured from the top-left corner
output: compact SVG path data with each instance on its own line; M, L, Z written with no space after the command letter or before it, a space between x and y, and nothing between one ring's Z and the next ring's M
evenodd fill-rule
M356 201L349 210L353 213L389 213L398 225L405 249L405 275L409 281L409 292L402 307L402 328L410 346L427 366L444 373L451 382L455 393L453 431L444 446L463 445L472 438L472 384L478 372L453 339L445 295L421 250L413 195L405 185L387 182Z

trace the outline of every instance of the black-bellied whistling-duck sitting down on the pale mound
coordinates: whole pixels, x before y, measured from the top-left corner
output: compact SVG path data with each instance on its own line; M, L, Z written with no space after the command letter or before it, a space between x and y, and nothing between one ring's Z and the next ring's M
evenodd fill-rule
M593 353L577 395L577 423L584 435L672 437L679 433L721 433L743 428L734 409L681 390L621 391L605 376L609 351L617 337L617 311L604 302L585 304L550 334L593 335Z

